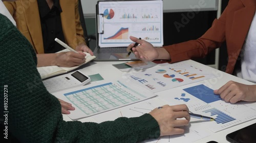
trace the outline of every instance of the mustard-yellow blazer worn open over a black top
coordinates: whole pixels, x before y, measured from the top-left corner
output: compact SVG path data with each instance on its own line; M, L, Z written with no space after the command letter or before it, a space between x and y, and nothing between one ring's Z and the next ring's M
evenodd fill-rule
M60 17L66 44L72 48L81 43L85 44L78 1L60 0L59 3L62 9ZM44 53L37 0L18 0L4 4L16 21L18 30L29 40L36 53Z

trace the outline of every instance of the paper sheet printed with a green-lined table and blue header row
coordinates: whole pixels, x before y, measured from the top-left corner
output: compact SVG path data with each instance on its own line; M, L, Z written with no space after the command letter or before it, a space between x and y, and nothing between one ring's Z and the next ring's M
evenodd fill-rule
M88 88L80 87L74 91L62 91L56 93L56 95L59 97L65 96L69 100L68 102L71 102L76 107L76 110L68 115L73 120L89 117L155 96L147 90L128 85L129 83L118 80Z

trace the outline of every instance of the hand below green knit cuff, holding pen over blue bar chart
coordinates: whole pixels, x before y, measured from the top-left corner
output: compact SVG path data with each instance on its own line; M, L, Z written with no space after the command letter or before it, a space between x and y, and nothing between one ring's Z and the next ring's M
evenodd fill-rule
M184 129L179 128L179 126L187 126L190 121L188 108L185 104L174 106L164 105L160 109L156 108L152 110L150 115L156 119L159 125L160 136L182 134L184 133Z

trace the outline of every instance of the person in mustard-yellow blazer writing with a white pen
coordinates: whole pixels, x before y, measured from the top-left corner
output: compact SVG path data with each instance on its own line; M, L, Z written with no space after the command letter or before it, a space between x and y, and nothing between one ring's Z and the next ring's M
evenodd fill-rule
M18 0L4 4L16 21L18 30L37 53L37 67L73 67L86 61L83 52L55 53L65 49L55 42L55 38L66 41L77 51L93 55L83 37L77 0Z

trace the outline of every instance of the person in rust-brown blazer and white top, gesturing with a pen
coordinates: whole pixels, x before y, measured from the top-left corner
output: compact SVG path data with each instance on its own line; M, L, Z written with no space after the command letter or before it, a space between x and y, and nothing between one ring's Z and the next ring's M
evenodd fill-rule
M256 1L230 0L219 19L215 19L209 30L199 39L178 44L153 47L152 44L135 37L130 39L138 44L131 48L137 58L143 61L157 59L170 60L170 63L206 56L226 41L228 64L226 72L256 83ZM241 68L235 69L235 65ZM256 101L256 85L245 85L229 81L214 91L226 102Z

